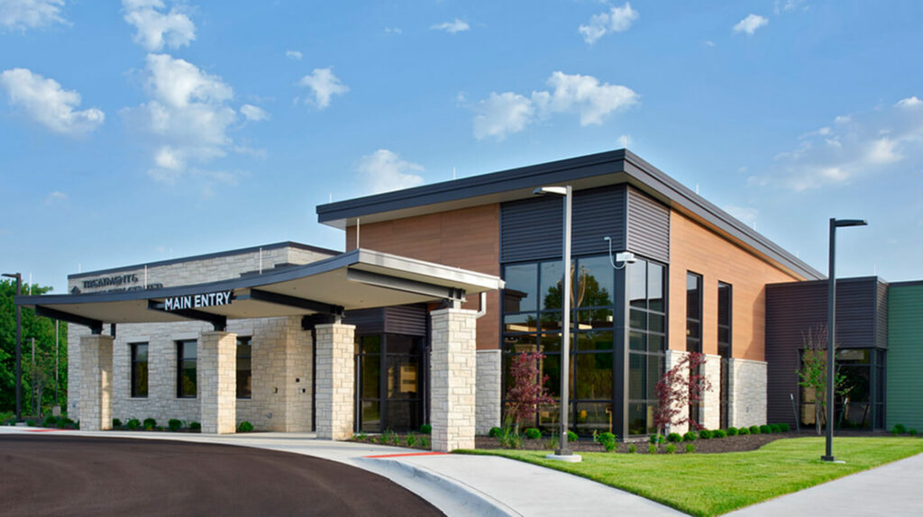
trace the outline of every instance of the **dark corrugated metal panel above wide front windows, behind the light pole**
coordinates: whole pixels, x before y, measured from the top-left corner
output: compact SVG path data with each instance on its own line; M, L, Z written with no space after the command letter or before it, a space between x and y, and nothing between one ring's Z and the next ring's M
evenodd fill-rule
M616 185L574 193L571 253L607 253L625 248L626 188ZM561 256L563 202L541 196L500 206L500 262L521 262Z

